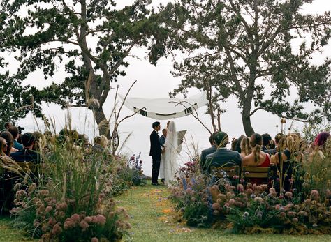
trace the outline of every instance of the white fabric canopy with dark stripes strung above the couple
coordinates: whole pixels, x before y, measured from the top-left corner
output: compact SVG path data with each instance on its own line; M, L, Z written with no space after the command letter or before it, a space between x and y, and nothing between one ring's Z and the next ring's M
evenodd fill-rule
M124 96L119 95L124 100ZM174 119L187 116L194 109L207 105L206 92L198 93L191 98L126 98L124 106L133 112L151 119Z

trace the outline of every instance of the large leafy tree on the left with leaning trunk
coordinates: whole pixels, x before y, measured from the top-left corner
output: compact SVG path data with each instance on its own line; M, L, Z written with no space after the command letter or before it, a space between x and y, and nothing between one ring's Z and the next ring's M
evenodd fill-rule
M112 0L1 1L1 50L20 61L15 82L36 70L47 79L64 66L64 80L43 90L30 89L35 108L40 110L41 102L88 107L105 133L102 107L111 82L126 74L126 57L133 47L148 46L153 64L165 52L167 31L150 2L137 0L118 9Z

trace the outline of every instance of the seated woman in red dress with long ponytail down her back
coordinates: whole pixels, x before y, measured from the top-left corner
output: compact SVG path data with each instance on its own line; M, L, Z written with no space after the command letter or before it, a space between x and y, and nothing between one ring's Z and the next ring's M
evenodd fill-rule
M262 136L260 134L251 135L249 140L251 153L242 160L243 167L269 167L270 157L267 153L261 151Z

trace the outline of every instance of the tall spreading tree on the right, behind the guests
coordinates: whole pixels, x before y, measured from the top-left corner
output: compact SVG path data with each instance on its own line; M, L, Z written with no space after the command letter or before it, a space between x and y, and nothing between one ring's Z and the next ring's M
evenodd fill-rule
M173 94L212 87L214 101L235 96L247 135L254 133L251 115L258 109L300 121L331 120L331 60L311 63L330 40L330 13L302 14L305 3L311 0L169 3L172 48L188 54L174 64L182 84ZM307 102L316 106L311 113Z

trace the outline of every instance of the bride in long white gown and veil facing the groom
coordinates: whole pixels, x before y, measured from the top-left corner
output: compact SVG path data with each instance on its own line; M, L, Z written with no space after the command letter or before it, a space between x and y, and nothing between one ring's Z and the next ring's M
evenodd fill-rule
M179 169L177 144L177 130L174 121L168 124L167 138L165 139L165 151L163 153L163 167L165 185L170 185L170 181L175 180L175 173Z

